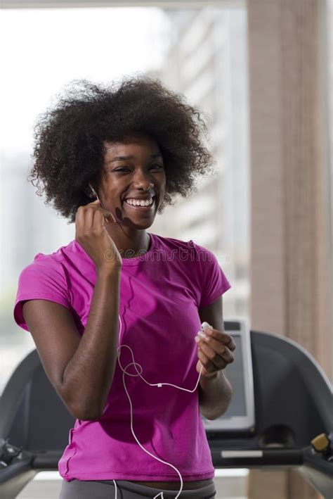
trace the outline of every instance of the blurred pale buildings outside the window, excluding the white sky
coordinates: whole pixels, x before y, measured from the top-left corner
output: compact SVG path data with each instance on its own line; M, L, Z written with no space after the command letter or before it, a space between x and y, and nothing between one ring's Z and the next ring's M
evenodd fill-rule
M200 179L197 193L190 198L178 196L175 206L157 215L148 232L193 239L213 251L233 286L223 297L224 318L248 319L246 11L202 8L163 12L166 27L159 43L165 45L165 58L158 70L148 67L145 73L158 77L203 111L216 175ZM27 182L30 154L8 149L1 152L1 209L8 216L2 217L1 223L1 239L6 244L1 247L0 344L4 362L0 393L20 359L35 348L31 335L13 320L18 276L37 253L51 253L74 239L74 224L67 225L51 206L44 206L44 196L39 198L37 187Z

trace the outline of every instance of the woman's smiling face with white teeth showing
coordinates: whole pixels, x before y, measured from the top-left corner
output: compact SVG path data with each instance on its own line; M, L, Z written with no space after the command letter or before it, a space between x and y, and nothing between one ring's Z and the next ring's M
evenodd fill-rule
M104 145L103 175L98 191L103 208L110 210L123 225L136 229L150 227L164 199L166 184L157 143L147 135L136 135ZM152 198L152 204L141 207L134 206L136 201L129 201L138 198Z

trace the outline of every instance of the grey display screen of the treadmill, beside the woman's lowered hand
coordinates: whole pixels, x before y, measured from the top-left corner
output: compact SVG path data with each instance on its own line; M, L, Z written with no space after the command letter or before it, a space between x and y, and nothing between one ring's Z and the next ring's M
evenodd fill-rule
M226 331L228 333L228 331ZM226 377L233 386L233 398L231 399L228 410L220 419L230 417L247 416L246 400L244 391L244 366L242 358L242 344L239 334L233 334L236 349L233 353L235 360L226 367Z

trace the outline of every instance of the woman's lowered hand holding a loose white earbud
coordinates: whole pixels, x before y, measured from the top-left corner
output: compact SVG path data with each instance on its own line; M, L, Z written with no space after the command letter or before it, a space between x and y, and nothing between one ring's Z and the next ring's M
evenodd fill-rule
M198 350L197 356L197 372L202 368L202 377L215 378L218 371L225 369L228 364L234 361L233 351L235 350L235 341L232 336L218 331L218 329L209 329L200 331L206 336L206 339L201 336L195 336Z

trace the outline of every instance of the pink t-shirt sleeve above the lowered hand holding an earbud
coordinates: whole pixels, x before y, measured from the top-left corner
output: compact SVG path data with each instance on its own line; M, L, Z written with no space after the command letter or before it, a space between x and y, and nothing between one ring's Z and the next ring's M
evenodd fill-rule
M201 272L201 301L199 308L202 308L210 305L228 291L231 284L228 282L214 253L199 244L195 244L192 240L190 243L195 248L197 265L199 265Z

